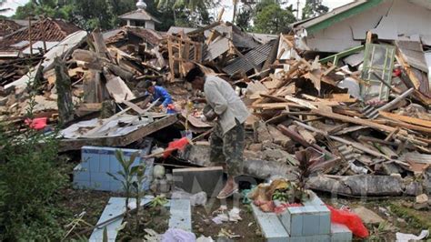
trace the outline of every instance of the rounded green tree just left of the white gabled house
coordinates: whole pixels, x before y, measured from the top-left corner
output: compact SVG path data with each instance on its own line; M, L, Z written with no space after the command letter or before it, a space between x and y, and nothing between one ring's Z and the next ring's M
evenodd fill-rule
M263 5L256 5L254 30L258 33L278 34L286 30L288 25L296 21L289 9L283 9L278 1L264 0Z

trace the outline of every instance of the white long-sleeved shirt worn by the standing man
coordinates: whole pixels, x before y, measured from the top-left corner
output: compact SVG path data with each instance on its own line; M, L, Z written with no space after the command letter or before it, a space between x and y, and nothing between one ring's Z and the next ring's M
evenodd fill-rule
M204 92L206 103L217 114L217 122L222 127L224 135L236 126L235 119L240 124L246 122L249 116L246 105L225 80L218 76L205 76Z

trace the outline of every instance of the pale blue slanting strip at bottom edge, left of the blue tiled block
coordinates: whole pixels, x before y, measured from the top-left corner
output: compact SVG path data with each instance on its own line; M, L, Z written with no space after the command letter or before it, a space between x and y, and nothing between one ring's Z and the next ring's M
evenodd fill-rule
M275 213L264 213L259 207L254 204L251 205L253 215L257 220L262 234L265 236L266 241L270 242L284 242L289 241L289 235L286 228L282 225L280 219Z

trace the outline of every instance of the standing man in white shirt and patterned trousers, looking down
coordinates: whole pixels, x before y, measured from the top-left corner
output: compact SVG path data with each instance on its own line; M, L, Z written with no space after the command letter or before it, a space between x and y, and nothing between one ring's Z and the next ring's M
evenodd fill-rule
M226 162L227 182L217 198L230 197L238 191L236 176L243 172L244 123L249 115L246 105L230 84L218 76L205 76L199 67L191 69L185 79L194 89L204 91L208 104L204 110L205 119L217 118L210 136L210 159L211 162Z

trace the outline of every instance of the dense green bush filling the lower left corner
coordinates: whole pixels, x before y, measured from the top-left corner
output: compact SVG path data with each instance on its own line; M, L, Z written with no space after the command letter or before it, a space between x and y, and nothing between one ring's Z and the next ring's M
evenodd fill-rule
M33 87L31 88L33 90ZM28 117L35 102L30 92ZM64 235L55 207L67 184L57 156L56 133L0 123L0 240L59 240Z

